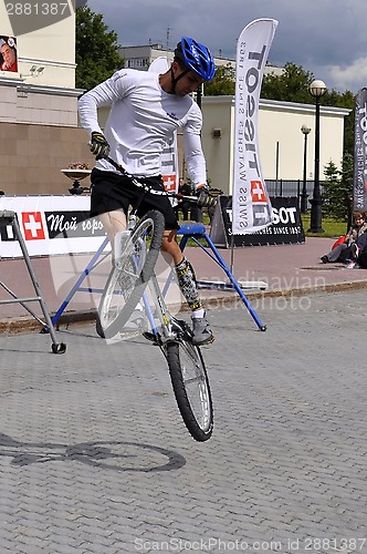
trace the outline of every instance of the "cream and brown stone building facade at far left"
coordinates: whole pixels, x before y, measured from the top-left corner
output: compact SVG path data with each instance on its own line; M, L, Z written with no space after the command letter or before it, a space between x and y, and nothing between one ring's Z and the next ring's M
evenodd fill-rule
M52 4L57 12L44 16L50 24L35 29L42 14L19 11L35 4L17 4L18 17L13 6L0 3L0 35L15 38L18 54L17 72L0 70L0 188L8 195L67 194L60 170L93 163L77 122L73 2L63 2L63 12Z

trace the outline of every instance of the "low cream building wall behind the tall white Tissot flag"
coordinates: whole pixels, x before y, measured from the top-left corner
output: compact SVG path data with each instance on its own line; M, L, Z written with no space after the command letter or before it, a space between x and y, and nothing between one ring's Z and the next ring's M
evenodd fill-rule
M208 163L208 178L212 186L227 194L232 192L234 98L205 96L202 99L202 144ZM343 158L344 117L349 110L321 106L319 174L333 161L340 167ZM260 165L264 179L297 181L303 178L304 134L306 143L306 176L314 178L315 106L274 100L260 100L258 142Z

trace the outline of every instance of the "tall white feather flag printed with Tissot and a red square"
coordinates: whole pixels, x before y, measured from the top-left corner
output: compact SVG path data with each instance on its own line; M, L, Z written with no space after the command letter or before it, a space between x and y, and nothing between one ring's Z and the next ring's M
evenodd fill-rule
M272 223L272 205L260 165L258 113L264 68L277 21L256 19L237 45L232 234L244 235Z

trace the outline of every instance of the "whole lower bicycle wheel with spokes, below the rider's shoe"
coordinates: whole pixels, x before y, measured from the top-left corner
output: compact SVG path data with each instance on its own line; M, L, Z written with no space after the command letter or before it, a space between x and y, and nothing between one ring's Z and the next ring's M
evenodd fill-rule
M195 440L207 441L213 430L213 408L200 349L185 339L169 341L164 348L184 422Z

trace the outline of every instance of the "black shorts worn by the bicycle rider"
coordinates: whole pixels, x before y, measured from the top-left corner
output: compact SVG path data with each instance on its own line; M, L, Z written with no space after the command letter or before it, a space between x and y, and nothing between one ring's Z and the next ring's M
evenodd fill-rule
M165 189L160 176L136 177L136 181L146 183L154 191ZM91 174L91 217L115 209L124 209L126 214L128 207L134 206L141 194L141 188L134 185L132 177L118 175L114 172L94 168ZM165 216L165 228L167 230L180 228L168 196L146 193L137 215L141 217L149 209L157 209Z

